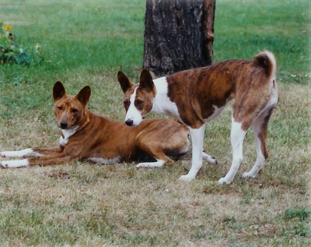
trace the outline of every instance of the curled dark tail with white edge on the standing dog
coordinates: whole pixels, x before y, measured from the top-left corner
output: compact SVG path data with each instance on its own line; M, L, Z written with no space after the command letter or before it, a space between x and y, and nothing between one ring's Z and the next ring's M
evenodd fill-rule
M272 52L264 50L254 58L254 63L261 66L269 78L276 78L277 61Z

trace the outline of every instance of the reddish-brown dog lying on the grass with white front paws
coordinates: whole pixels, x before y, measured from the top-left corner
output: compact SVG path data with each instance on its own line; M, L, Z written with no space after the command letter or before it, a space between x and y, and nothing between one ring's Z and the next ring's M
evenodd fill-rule
M31 157L1 161L4 168L58 165L73 159L113 164L147 154L156 162L137 166L160 167L172 160L168 154L184 154L189 146L188 129L172 119L147 119L132 128L123 122L98 116L86 109L91 89L85 86L69 96L61 82L53 87L54 113L61 129L59 148L27 148L3 151L1 157Z

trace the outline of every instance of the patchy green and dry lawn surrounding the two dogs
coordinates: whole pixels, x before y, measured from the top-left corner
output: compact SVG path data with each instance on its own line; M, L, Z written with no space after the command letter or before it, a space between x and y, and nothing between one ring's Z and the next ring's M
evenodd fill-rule
M1 66L0 150L56 145L51 88L89 84L89 108L123 120L116 72L137 80L142 65L144 1L33 1L1 6L16 39L45 62ZM39 21L38 21L39 20ZM306 33L302 32L306 31ZM219 0L215 61L270 49L278 58L280 102L269 125L269 159L254 180L251 131L233 184L218 186L231 161L228 107L206 126L204 165L192 183L178 181L187 154L163 169L134 163L73 162L0 170L0 246L310 246L310 3Z

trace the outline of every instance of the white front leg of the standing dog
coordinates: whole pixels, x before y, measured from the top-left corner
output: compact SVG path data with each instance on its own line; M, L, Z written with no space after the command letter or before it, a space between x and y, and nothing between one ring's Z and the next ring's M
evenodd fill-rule
M192 164L187 175L182 175L179 180L181 181L192 181L196 178L196 173L202 167L202 150L204 141L204 130L205 125L203 124L198 129L192 129L190 127L190 135L192 140Z

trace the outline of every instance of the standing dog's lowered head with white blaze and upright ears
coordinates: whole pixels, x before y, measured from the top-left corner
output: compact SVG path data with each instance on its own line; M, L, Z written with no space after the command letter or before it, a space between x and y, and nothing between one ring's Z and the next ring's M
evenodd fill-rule
M124 93L125 123L137 126L151 111L156 90L152 76L147 69L140 74L139 84L133 84L121 71L118 81Z

